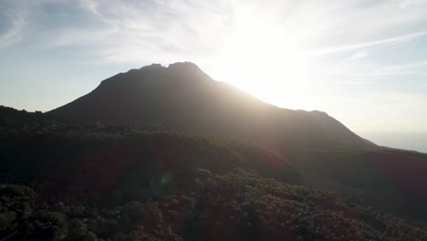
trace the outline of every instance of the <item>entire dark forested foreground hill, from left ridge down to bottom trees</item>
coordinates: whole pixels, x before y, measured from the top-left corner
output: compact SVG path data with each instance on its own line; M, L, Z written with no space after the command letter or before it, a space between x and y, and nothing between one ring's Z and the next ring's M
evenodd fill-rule
M0 107L0 238L427 240L246 141Z

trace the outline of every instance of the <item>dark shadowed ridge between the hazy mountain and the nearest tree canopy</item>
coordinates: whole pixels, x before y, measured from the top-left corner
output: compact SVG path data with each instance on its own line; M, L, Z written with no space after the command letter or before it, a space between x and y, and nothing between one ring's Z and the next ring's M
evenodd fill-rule
M223 173L237 167L280 181L303 182L283 155L247 141L162 127L68 123L4 107L0 114L3 183L11 178L14 183L51 180L48 186L60 192L89 188L85 192L92 193L88 183L119 176L132 180L154 173L185 175L198 168Z

